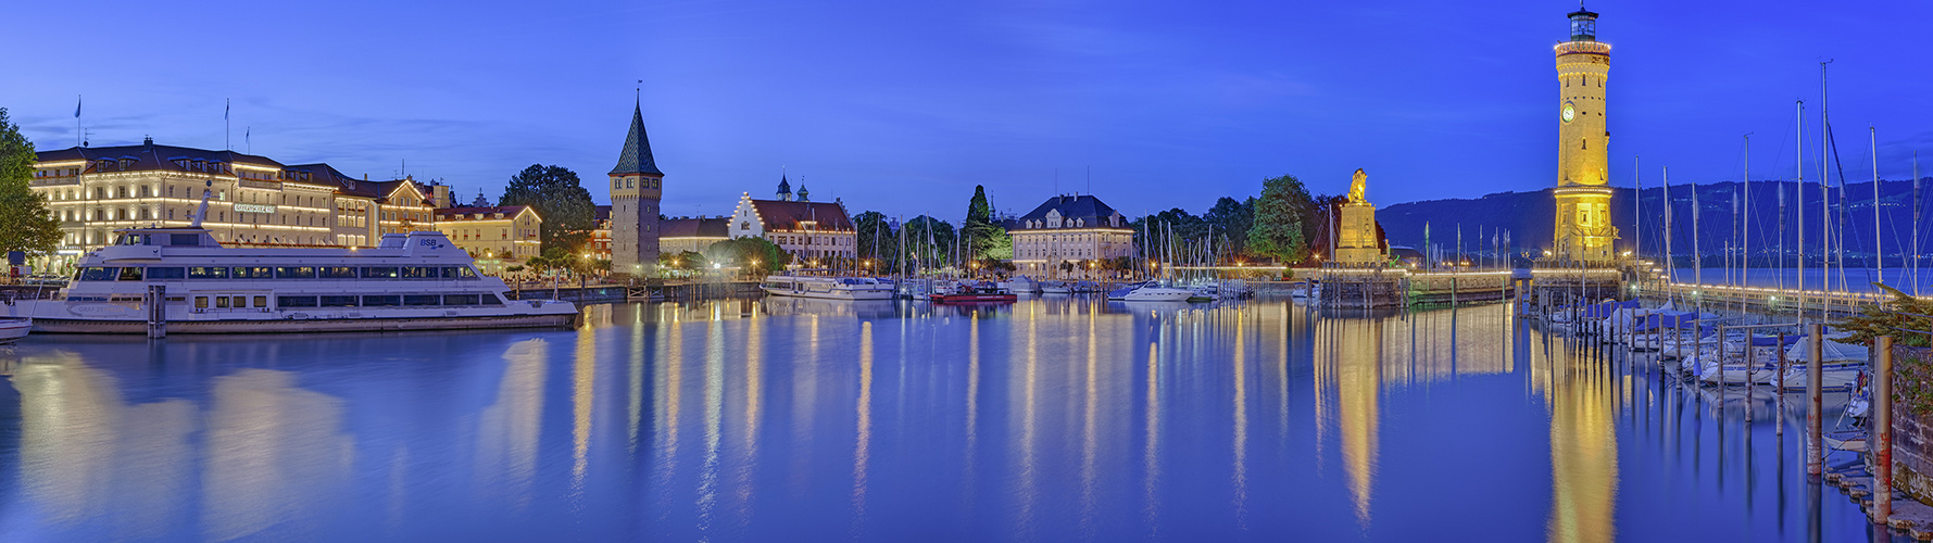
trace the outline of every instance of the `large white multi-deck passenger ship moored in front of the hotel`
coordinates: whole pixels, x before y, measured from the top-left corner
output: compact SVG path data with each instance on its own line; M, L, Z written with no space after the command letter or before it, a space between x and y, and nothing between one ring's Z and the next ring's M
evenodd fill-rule
M222 247L199 226L116 234L52 300L0 313L33 317L35 332L99 334L141 334L151 321L226 334L564 327L578 315L570 301L510 300L441 232L385 234L373 249Z

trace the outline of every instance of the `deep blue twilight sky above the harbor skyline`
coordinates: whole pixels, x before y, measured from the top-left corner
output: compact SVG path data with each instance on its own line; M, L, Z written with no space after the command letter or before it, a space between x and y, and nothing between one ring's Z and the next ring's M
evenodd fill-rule
M1382 205L1556 176L1550 46L1573 2L14 2L0 106L41 149L234 149L462 199L561 164L595 199L632 89L669 214L769 195L781 168L856 211L1026 213L1088 191L1127 214L1295 174ZM1593 2L1614 44L1612 176L1794 170L1819 60L1848 178L1933 151L1933 2ZM251 131L244 143L244 131ZM1805 143L1815 149L1817 141ZM245 149L247 147L247 149ZM1929 155L1933 158L1933 155ZM1933 172L1933 166L1927 168ZM1055 174L1057 172L1057 174ZM1057 182L1055 182L1057 178Z

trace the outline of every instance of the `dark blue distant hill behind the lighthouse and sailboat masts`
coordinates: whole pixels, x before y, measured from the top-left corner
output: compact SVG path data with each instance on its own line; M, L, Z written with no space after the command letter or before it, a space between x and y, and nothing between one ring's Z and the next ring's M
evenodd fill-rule
M1732 211L1734 193L1742 195L1744 184L1722 182L1722 184L1699 184L1697 186L1697 207L1699 207L1699 238L1701 253L1709 257L1722 255L1724 243L1736 240L1734 226L1744 213ZM1778 249L1778 193L1784 189L1786 213L1784 213L1784 240L1786 253L1796 253L1796 234L1798 234L1798 205L1800 197L1796 193L1798 184L1794 182L1751 182L1749 205L1751 205L1751 253L1753 259L1771 259ZM1914 213L1912 213L1912 182L1881 182L1881 243L1885 243L1887 259L1898 259L1898 255L1908 251ZM1807 253L1815 253L1819 247L1819 184L1805 184L1805 245ZM1633 243L1633 209L1631 203L1633 189L1618 187L1610 201L1610 213L1618 222L1620 238L1618 245L1628 247ZM1689 255L1691 253L1691 191L1689 186L1676 184L1670 187L1672 195L1672 253ZM1933 222L1933 178L1921 180L1921 224L1919 245L1921 255L1933 253L1933 230L1925 228L1925 222ZM1664 189L1657 186L1645 186L1643 211L1645 211L1645 253L1660 255L1664 253ZM1848 265L1854 265L1854 257L1869 257L1873 253L1873 182L1848 184L1844 189L1844 205L1840 205L1840 189L1832 187L1832 203L1840 214L1834 228L1844 226L1846 255ZM1744 211L1745 201L1740 199L1740 211ZM1543 191L1506 191L1488 193L1475 199L1430 199L1430 201L1411 201L1398 203L1390 207L1376 209L1376 220L1382 222L1384 232L1388 232L1392 245L1423 245L1423 226L1430 226L1430 243L1440 247L1452 247L1456 243L1456 232L1461 224L1463 243L1469 251L1479 247L1477 236L1483 232L1483 247L1490 245L1490 232L1498 228L1510 232L1512 249L1521 251L1541 251L1550 245L1552 236L1552 209L1554 201L1550 189ZM1811 257L1811 255L1807 255Z

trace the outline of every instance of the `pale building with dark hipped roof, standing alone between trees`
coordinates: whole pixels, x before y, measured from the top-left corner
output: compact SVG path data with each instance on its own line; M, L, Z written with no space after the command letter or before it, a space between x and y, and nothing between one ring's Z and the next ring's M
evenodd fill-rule
M1013 267L1034 276L1061 274L1061 263L1135 255L1135 228L1094 195L1057 195L1021 214L1013 238Z

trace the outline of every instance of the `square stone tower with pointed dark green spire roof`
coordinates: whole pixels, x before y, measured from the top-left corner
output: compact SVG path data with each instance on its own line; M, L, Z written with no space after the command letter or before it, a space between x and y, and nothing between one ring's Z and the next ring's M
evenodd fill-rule
M630 110L630 133L611 168L611 271L646 276L657 267L657 203L665 172L644 133L644 104Z

